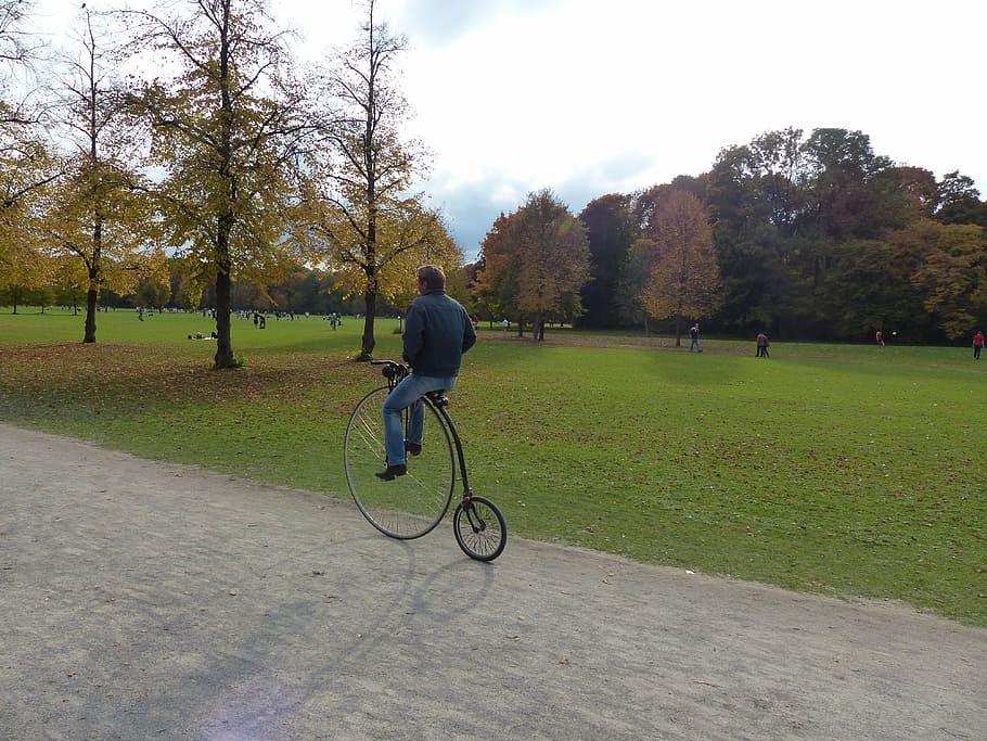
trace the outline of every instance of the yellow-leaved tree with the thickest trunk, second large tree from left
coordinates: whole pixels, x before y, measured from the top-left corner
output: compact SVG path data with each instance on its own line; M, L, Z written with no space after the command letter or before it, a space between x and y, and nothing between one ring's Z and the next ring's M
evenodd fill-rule
M305 261L285 240L297 168L311 152L310 105L291 77L283 31L269 31L260 0L195 0L188 17L132 12L141 49L174 63L131 97L152 131L162 228L215 280L217 369L235 366L231 291ZM172 69L155 59L153 68Z

